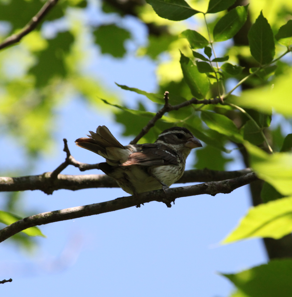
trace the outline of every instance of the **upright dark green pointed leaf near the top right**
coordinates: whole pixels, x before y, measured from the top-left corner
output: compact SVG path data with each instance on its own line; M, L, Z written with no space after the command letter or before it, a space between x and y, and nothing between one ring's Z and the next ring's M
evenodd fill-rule
M274 34L263 12L248 32L249 48L252 56L261 64L270 63L275 55Z

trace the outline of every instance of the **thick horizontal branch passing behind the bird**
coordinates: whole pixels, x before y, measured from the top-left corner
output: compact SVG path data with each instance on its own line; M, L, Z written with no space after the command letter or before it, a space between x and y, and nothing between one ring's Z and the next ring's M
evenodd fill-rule
M217 171L209 170L207 168L203 170L186 170L176 183L222 181L242 176L250 172L250 168L236 171ZM51 174L51 172L45 172L40 175L0 177L0 192L41 190L46 194L52 194L59 189L76 191L89 188L119 187L114 179L105 174L59 174L54 180L51 179Z

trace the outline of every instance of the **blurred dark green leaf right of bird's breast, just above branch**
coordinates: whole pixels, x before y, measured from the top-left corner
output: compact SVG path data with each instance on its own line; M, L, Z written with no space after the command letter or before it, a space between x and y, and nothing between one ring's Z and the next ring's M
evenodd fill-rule
M205 146L196 150L197 162L194 165L197 169L225 170L225 165L232 161L231 158L225 158L222 152L212 146Z

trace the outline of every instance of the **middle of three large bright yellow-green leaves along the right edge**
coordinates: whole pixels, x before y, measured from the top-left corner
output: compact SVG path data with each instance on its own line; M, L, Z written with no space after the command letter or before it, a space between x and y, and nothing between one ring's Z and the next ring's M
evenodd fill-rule
M259 178L271 184L282 195L292 195L292 153L267 154L257 146L244 142L249 152L251 167Z

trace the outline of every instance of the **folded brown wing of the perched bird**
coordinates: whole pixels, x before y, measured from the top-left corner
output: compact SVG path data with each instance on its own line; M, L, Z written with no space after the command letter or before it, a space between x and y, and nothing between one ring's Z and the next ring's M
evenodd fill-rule
M155 143L140 145L141 151L131 154L120 166L178 164L175 152Z

